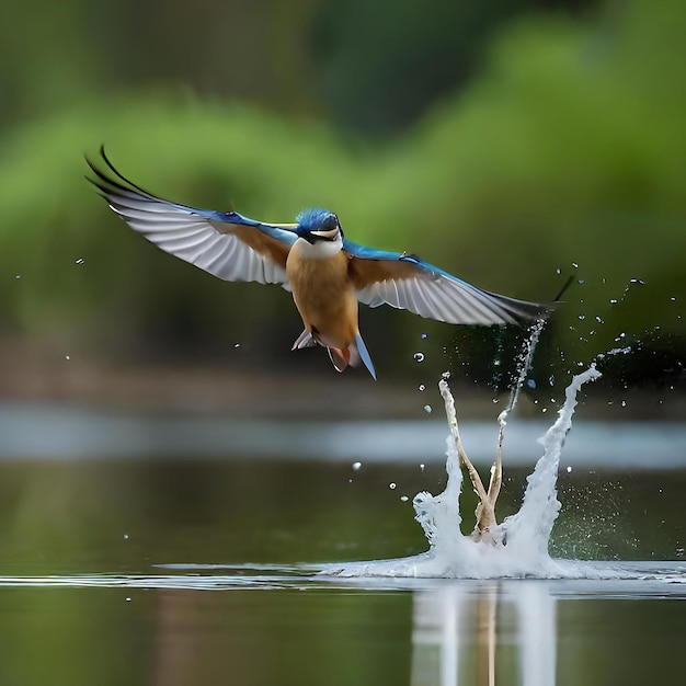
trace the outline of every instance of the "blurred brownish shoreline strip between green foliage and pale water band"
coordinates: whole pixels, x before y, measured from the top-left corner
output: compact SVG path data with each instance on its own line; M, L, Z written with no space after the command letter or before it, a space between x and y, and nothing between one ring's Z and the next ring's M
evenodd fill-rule
M425 390L415 379L393 377L373 381L362 369L336 374L260 373L187 363L124 365L56 356L42 351L1 351L0 403L85 408L167 416L224 416L227 419L347 421L347 420L438 420L443 401L431 374L424 375ZM328 361L327 361L328 362ZM293 369L298 369L293 365ZM682 392L636 388L616 390L603 381L590 386L580 397L579 414L602 421L683 421L686 398ZM494 398L487 386L475 388L453 379L451 388L460 419L495 423L507 395ZM548 422L563 402L563 387L537 402L523 392L516 414ZM554 400L554 402L553 402ZM624 403L624 405L622 405Z

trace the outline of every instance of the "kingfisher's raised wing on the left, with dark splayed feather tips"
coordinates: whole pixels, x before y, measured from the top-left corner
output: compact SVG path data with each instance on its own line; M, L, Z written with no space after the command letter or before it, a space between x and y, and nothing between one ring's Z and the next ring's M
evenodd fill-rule
M132 229L165 252L225 281L254 281L288 287L286 259L297 236L295 225L262 224L236 211L199 209L148 193L110 162L111 174L88 158L95 174L88 179Z

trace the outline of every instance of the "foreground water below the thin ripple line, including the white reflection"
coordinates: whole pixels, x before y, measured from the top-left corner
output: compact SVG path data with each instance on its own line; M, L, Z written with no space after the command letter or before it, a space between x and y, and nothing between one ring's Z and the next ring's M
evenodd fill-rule
M343 580L306 565L176 564L2 579L0 683L682 683L686 565L639 570Z

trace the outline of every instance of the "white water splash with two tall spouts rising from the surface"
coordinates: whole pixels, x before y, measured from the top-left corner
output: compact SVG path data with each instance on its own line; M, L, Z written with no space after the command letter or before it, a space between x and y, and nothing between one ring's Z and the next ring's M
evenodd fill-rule
M565 391L565 402L558 419L539 438L544 455L527 479L527 488L519 512L495 525L490 542L475 540L460 531L460 469L461 441L455 414L455 403L445 379L439 387L446 403L450 435L447 438L445 491L438 495L418 493L413 504L416 521L430 544L428 551L396 560L355 562L343 568L332 568L329 574L340 576L433 576L433 578L581 578L588 574L587 565L573 561L553 560L548 554L552 526L560 511L557 498L557 477L564 439L572 425L579 389L597 379L601 373L592 365L573 377ZM501 413L499 449L506 412ZM505 418L502 415L505 414ZM492 545L493 541L495 545ZM605 573L610 573L605 570Z

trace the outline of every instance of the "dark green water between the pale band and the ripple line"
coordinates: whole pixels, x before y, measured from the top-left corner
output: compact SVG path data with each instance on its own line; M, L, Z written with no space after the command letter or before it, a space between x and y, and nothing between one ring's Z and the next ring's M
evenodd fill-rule
M563 460L564 464L564 460ZM22 573L147 572L151 564L333 562L416 554L412 498L442 461L217 459L0 461L0 563ZM529 470L505 470L499 517ZM686 560L686 469L563 466L556 557ZM464 533L476 496L464 494Z

